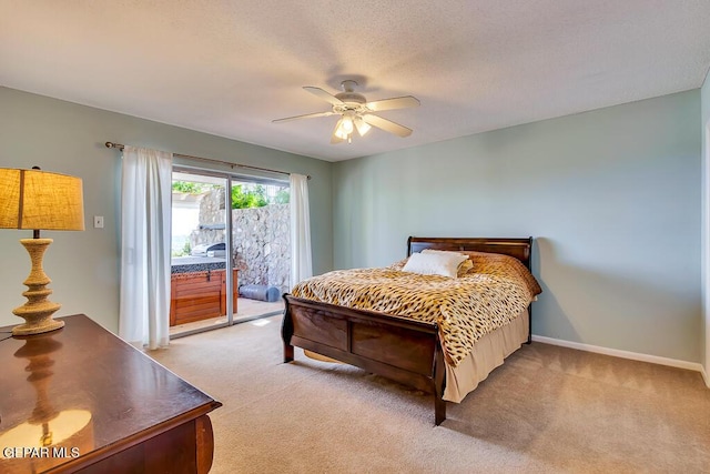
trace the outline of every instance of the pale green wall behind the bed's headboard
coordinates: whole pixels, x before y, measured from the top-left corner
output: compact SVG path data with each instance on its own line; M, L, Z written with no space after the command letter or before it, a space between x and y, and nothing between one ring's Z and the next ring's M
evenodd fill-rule
M700 362L699 120L694 90L336 163L335 266L532 235L535 334Z

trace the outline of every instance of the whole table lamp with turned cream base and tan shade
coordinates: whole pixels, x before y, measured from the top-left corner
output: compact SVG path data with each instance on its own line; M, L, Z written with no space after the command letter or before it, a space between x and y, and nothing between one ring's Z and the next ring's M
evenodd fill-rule
M52 281L42 269L44 251L52 239L40 239L40 230L83 231L84 204L81 179L50 173L37 168L18 170L0 168L0 229L20 229L33 232L32 239L20 239L32 270L24 281L22 293L27 302L12 313L26 323L12 329L13 335L40 334L64 325L52 319L61 304L49 301Z

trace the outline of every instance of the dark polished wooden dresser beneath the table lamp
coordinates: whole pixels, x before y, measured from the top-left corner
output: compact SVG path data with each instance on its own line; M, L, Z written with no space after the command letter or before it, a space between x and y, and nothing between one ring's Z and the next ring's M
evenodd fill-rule
M0 341L0 472L209 472L222 404L85 315L60 320Z

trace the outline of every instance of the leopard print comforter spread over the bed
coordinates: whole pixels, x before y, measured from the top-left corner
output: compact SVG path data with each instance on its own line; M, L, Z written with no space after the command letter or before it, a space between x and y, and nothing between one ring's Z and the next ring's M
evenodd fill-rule
M298 283L292 294L342 306L436 322L446 361L456 366L485 334L508 324L541 292L518 260L465 252L474 266L459 278L387 268L337 270Z

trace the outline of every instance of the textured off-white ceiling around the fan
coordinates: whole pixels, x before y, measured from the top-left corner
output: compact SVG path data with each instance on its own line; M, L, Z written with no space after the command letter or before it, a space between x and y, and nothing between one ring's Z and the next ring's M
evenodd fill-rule
M0 84L338 161L699 88L709 23L709 0L0 0ZM379 112L414 133L271 122L353 78L418 98Z

